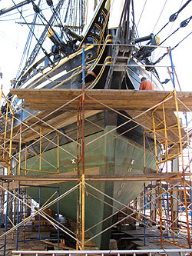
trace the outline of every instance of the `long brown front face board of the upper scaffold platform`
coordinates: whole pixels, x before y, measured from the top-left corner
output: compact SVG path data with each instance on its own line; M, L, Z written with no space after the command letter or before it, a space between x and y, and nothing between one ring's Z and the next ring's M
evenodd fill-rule
M78 89L12 89L12 94L25 99L25 107L31 110L50 110L65 105L65 109L77 109L81 90ZM88 90L85 91L85 109L106 110L107 106L118 110L144 111L164 101L170 91L138 90ZM177 92L177 97L188 108L192 108L192 93ZM100 102L99 102L100 101ZM174 111L174 97L170 96L166 108ZM187 111L179 102L180 111Z

